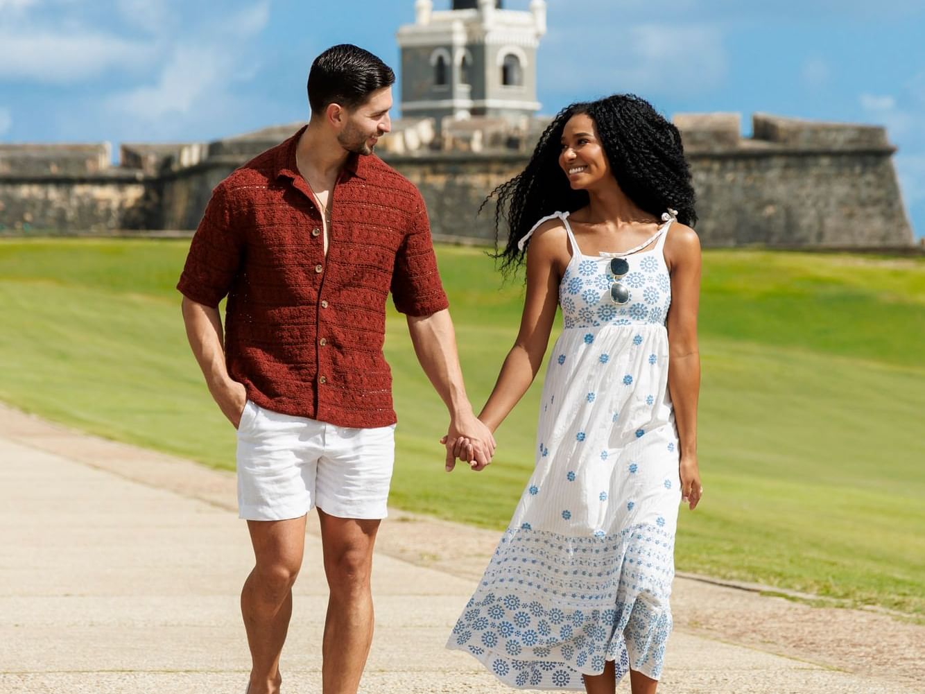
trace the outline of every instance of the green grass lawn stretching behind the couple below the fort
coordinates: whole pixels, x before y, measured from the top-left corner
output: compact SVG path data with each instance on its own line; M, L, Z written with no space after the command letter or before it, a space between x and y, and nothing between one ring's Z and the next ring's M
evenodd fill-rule
M0 242L0 399L233 466L234 437L186 344L173 289L187 242ZM517 330L518 282L438 249L476 409ZM710 251L700 465L680 570L925 615L925 261ZM540 383L487 472L443 472L446 417L404 319L388 322L398 459L391 501L503 527L533 465ZM437 414L437 415L435 415Z

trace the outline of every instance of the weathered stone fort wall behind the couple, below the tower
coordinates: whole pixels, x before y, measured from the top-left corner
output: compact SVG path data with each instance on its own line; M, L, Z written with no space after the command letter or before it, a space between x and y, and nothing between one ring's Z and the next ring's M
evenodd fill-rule
M741 138L731 114L675 118L697 191L705 246L910 246L913 233L882 128L756 115ZM195 229L215 185L293 127L208 145L0 147L0 233ZM435 236L494 238L489 192L526 151L421 149L383 158L424 194Z

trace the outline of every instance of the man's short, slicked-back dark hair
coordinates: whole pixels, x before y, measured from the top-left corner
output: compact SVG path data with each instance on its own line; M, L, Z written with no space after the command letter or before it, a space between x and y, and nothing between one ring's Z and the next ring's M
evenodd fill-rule
M331 46L314 59L308 73L308 103L313 114L327 105L363 105L377 89L395 83L392 68L369 51L351 43Z

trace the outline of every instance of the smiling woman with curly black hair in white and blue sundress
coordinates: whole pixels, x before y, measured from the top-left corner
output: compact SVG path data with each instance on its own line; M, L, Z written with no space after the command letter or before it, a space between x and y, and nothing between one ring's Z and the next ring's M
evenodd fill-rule
M557 305L564 329L536 470L448 648L513 687L611 693L629 671L634 694L651 694L672 627L678 505L702 494L700 247L681 137L633 95L574 104L497 192L502 267L525 255L527 285L479 415L488 428L536 377ZM472 459L466 440L447 443Z

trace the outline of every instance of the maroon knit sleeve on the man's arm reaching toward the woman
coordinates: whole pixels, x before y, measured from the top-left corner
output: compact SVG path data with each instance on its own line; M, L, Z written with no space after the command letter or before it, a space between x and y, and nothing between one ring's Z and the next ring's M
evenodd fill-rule
M409 221L408 233L395 255L392 272L392 301L408 316L430 316L450 306L437 267L430 222L420 193L417 209Z

